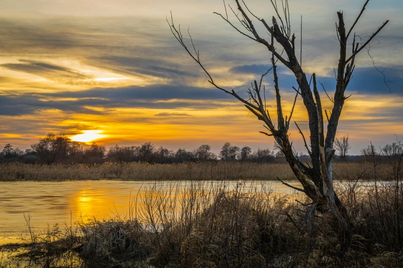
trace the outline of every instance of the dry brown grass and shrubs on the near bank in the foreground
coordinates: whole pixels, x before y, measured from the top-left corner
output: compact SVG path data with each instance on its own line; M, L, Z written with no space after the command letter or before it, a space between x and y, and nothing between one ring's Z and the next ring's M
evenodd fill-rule
M149 188L126 219L28 232L9 254L29 267L402 267L403 184L358 186L338 189L353 230L345 244L329 215L307 219L307 207L271 189L194 182L185 198Z

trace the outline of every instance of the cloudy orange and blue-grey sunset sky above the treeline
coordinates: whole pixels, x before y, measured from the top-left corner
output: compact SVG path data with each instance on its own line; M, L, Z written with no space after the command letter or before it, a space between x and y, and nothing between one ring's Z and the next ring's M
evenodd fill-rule
M269 0L246 3L267 21L274 14ZM297 40L303 17L303 69L307 75L316 72L331 94L339 53L336 12L343 10L349 28L364 1L289 3ZM234 1L226 4L235 6ZM271 54L213 14L225 13L223 1L0 0L0 7L0 147L11 143L26 149L48 132L107 147L148 141L173 150L209 144L217 152L227 141L253 149L273 147L273 139L258 132L264 130L261 122L209 85L166 22L172 12L181 29L189 27L215 82L246 97L250 83L270 67ZM363 51L337 133L349 136L351 154L370 142L383 146L403 137L403 3L371 0L355 30L365 36L386 20L390 23L371 43L371 55L390 89ZM289 111L296 81L284 67L278 70L284 110ZM274 112L272 76L264 84ZM330 101L320 93L329 109ZM307 136L301 98L293 120ZM296 151L306 154L294 125L290 134Z

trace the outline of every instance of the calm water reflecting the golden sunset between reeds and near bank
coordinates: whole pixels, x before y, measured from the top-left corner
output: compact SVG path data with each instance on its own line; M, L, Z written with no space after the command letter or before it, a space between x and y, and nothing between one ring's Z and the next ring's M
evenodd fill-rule
M77 220L96 217L99 220L113 218L116 215L124 218L129 214L129 204L133 196L139 196L153 185L161 184L162 188L185 186L185 181L64 181L64 182L0 182L0 245L21 241L26 235L26 220L30 217L30 225L34 232L43 230L49 225L62 228ZM205 182L206 185L212 182ZM222 183L222 182L213 182ZM236 187L234 181L226 182L230 188ZM245 182L246 187L252 185L261 189L271 187L276 192L290 194L294 190L278 181ZM299 186L299 182L289 182ZM301 186L300 186L301 187ZM173 193L174 194L174 193Z

